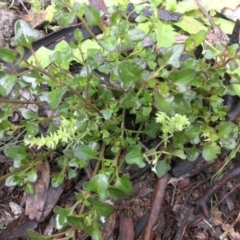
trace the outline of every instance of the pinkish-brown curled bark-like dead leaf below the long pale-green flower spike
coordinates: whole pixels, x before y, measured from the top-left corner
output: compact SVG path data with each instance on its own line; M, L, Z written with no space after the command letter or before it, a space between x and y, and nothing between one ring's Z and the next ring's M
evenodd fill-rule
M29 219L36 219L39 222L42 217L50 182L50 168L48 162L43 161L38 164L36 171L38 180L33 183L34 194L27 195L25 215L28 215Z

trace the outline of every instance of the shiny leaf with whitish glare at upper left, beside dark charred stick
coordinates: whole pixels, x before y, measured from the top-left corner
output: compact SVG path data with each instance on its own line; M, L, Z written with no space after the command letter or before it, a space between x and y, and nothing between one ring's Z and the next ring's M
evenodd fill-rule
M25 21L18 20L14 25L15 36L11 39L12 46L23 46L30 48L35 39L39 37L39 32L32 29Z

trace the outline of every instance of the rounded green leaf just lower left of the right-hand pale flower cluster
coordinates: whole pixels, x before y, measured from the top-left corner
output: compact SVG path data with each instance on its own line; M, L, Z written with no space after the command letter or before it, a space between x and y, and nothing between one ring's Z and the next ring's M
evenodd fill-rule
M145 162L140 146L129 147L129 151L125 158L128 164L136 164L140 168L145 167Z

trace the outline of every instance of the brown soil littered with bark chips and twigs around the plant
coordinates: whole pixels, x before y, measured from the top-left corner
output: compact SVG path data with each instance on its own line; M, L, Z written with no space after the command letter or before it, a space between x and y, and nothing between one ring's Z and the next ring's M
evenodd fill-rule
M0 8L1 47L8 45L10 37L13 36L14 22L21 18L21 15L27 14L25 8L28 8L26 2L21 4L17 2L13 8L15 10ZM56 156L52 156L52 159L54 157ZM48 167L48 171L55 172L56 166L52 159L48 159L50 164L40 166L39 172L43 172L42 169L45 171ZM116 211L109 218L106 227L102 229L104 240L240 239L240 174L235 171L239 167L237 162L233 161L228 165L218 182L211 182L212 176L224 161L222 157L214 164L209 164L200 159L187 171L186 164L183 170L173 165L174 171L167 176L165 186L149 168L146 168L144 173L137 174L141 169L126 167L125 171L132 177L134 194L114 203ZM11 164L10 159L3 154L0 155L0 176L8 173ZM79 171L78 176L81 174L82 172ZM224 179L231 174L233 177L224 182ZM40 180L43 181L44 178ZM53 207L64 208L73 205L74 193L79 191L82 181L82 178L76 178L75 181L66 180L65 186L57 189L50 187L44 192L45 195L43 194L43 199L47 199L47 207L42 206L39 199L38 202L34 202L34 199L30 200L21 188L8 188L1 182L0 239L28 239L25 236L27 228L35 229L42 234L53 233ZM220 188L212 192L208 198L208 190L213 186L220 186ZM159 204L153 205L153 202ZM33 208L37 206L44 214L38 217L32 216L31 212L26 213L26 206L29 203ZM28 211L29 209L34 211L33 208L28 207ZM159 214L156 223L151 226L148 220L154 212ZM151 238L146 237L147 231L150 231ZM78 239L90 238L78 232Z

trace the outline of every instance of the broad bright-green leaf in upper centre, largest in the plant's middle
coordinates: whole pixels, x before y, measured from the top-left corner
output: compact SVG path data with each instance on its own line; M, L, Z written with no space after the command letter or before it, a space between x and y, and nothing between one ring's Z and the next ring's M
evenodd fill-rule
M121 87L125 90L141 79L141 73L146 67L143 61L125 60L120 62L117 71L121 80Z

